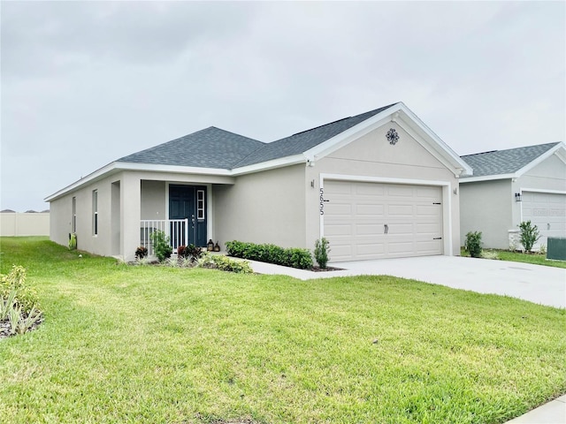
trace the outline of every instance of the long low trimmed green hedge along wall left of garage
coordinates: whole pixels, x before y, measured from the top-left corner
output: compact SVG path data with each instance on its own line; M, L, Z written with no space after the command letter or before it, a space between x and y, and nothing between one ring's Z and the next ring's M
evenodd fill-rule
M226 243L226 253L250 261L269 262L299 269L312 268L310 251L297 247L283 248L271 244L256 245L234 240Z

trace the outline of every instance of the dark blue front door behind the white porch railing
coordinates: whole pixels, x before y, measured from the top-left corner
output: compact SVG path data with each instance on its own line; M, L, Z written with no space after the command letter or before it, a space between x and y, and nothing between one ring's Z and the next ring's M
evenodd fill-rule
M188 240L184 239L184 225L176 227L174 232L179 234L172 238L184 245L206 246L206 187L169 186L169 219L188 219Z

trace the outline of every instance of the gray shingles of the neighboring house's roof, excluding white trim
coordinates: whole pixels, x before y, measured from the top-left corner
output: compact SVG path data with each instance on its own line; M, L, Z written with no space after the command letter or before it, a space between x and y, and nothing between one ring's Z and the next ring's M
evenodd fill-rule
M473 177L487 175L512 174L524 166L532 163L537 157L554 148L559 143L539 144L526 148L509 148L507 150L493 150L491 152L477 153L475 155L460 156L474 170Z

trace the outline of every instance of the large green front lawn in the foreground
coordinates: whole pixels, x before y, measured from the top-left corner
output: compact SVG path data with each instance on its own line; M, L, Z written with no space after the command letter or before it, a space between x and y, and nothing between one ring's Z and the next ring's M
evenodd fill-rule
M2 422L502 423L566 392L564 309L0 242L46 316L0 341Z

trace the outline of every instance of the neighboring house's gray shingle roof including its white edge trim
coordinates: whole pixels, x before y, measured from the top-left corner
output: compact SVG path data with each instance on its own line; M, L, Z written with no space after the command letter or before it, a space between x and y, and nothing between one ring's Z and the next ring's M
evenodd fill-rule
M516 178L561 148L564 148L563 143L555 142L461 157L473 169L473 176L470 178Z

